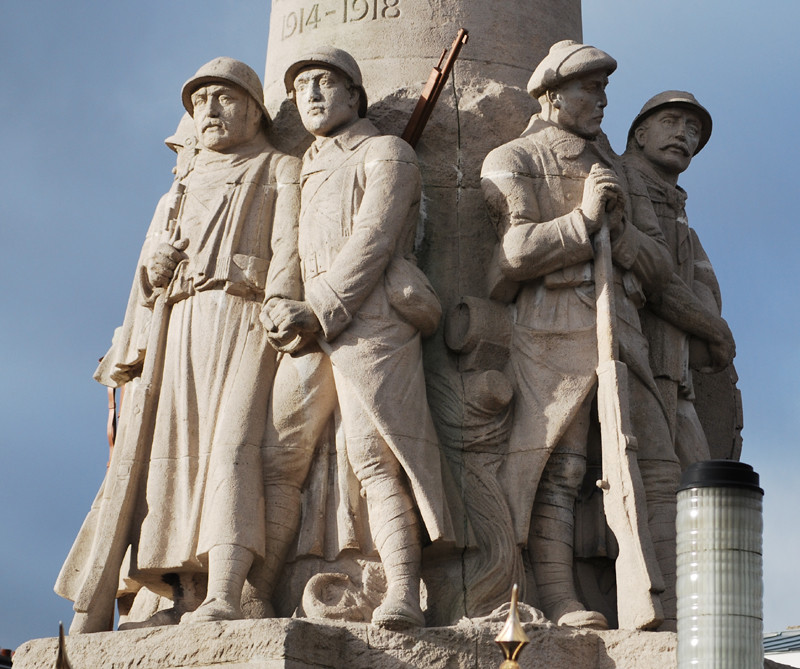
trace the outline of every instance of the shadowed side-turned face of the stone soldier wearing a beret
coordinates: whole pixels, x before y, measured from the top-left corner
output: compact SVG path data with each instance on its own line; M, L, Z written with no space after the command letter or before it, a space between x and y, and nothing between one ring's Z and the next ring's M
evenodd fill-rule
M590 72L561 84L551 94L551 103L558 110L556 123L581 137L596 137L608 104L607 85L608 76L604 72Z

